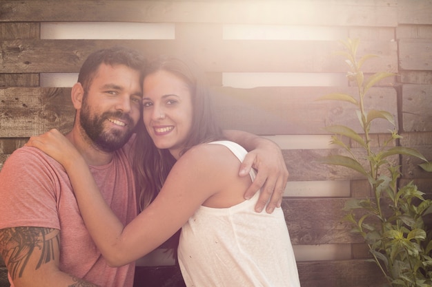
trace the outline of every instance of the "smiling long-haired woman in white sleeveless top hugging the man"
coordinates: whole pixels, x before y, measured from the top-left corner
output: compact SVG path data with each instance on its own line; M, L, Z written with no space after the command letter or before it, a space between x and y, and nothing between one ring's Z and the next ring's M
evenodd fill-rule
M256 213L259 193L244 200L255 175L237 176L246 151L224 140L198 75L178 59L148 65L135 161L147 184L145 208L127 226L61 134L55 149L30 144L68 171L84 222L112 266L146 255L181 228L178 260L187 286L300 286L282 209Z

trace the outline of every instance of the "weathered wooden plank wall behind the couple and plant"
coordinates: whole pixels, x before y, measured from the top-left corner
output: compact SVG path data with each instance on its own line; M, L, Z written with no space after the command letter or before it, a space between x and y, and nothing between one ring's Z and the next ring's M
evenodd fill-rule
M404 136L400 145L415 147L432 160L431 14L431 0L0 1L0 169L29 136L52 127L66 132L72 126L70 87L41 87L43 73L77 73L90 52L111 45L148 55L187 55L207 72L223 127L270 136L284 149L290 178L283 208L302 286L381 286L376 266L364 261L362 240L341 220L348 198L368 195L365 180L346 169L313 163L338 152L314 145L326 138L322 127L355 123L350 107L314 99L328 92L355 92L353 87L346 81L223 85L227 73L343 75L343 59L332 55L341 48L338 39L224 39L224 29L235 24L325 28L342 31L340 39L360 38L360 55L380 56L364 66L365 72L398 74L374 88L369 107L390 111ZM47 22L170 23L175 37L41 39L41 25ZM375 127L376 142L388 136L389 128L383 123ZM418 161L403 157L401 163L402 182L415 180L422 191L432 193L431 174L421 171ZM341 186L347 191L338 193ZM310 253L326 256L303 255ZM8 286L0 263L0 286ZM179 276L172 266L141 266L135 286L181 286Z

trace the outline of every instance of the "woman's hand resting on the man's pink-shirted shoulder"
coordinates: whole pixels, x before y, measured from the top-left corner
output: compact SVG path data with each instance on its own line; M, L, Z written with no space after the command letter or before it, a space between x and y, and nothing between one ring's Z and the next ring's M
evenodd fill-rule
M48 156L54 158L65 169L75 159L81 158L79 151L57 129L51 129L40 136L32 136L26 143L27 147L37 147Z

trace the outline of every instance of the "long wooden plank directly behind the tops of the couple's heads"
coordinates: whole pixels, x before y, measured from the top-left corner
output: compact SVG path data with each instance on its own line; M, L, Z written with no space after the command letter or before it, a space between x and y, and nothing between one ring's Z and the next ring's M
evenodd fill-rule
M200 39L199 25L189 25L179 40L15 40L2 41L0 67L6 73L78 72L88 54L124 45L144 55L187 55L205 72L343 72L348 70L336 41L253 41ZM210 30L210 32L213 30ZM205 31L202 30L205 33ZM364 72L397 72L397 43L362 42L359 56L377 54Z

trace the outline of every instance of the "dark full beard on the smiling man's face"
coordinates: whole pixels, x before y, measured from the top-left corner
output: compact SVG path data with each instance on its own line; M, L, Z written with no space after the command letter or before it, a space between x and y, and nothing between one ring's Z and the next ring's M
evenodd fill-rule
M90 109L85 102L84 100L81 114L79 114L79 120L81 128L88 138L90 138L101 151L112 152L123 147L133 134L134 123L132 118L121 111L106 111L100 116L94 116L92 118ZM123 121L126 123L128 130L126 132L116 129L109 132L104 131L104 122L108 118L115 118Z

